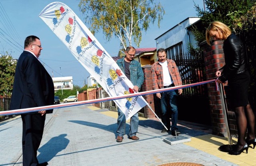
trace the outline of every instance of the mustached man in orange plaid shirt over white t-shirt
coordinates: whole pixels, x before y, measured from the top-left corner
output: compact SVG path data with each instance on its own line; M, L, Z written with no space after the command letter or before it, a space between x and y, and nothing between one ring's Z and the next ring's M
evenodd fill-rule
M153 89L169 88L172 86L182 85L182 80L178 68L173 60L166 58L166 50L159 48L157 50L158 61L151 66ZM182 89L178 90L178 94L182 94ZM178 131L178 108L177 94L174 90L168 92L157 93L156 97L160 98L160 107L162 112L162 122L168 128L164 128L161 132L170 131L170 118L167 112L167 104L170 103L172 110L172 135L180 134Z

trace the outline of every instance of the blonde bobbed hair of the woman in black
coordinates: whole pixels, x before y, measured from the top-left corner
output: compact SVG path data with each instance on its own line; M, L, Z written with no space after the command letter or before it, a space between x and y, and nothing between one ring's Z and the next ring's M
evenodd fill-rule
M214 21L212 22L208 28L206 29L206 33L205 33L205 36L206 36L206 42L207 44L211 45L210 44L210 31L221 31L222 32L222 35L223 35L223 38L222 40L225 40L230 34L231 34L231 30L228 26L226 26L226 24L223 24L222 22L219 22L219 21Z

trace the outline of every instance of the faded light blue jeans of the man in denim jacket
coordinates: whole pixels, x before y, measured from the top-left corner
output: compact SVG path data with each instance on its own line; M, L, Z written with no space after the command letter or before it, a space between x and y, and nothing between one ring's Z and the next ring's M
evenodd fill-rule
M117 130L116 133L118 136L124 136L125 134L125 126L126 126L126 118L124 113L118 108L118 118L117 118ZM138 112L134 114L130 119L130 132L129 137L136 136L138 132L139 126L139 114Z

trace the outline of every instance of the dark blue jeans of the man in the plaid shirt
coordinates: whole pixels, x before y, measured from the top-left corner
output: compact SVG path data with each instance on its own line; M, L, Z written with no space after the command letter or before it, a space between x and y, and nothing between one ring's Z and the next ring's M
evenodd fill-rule
M170 129L170 118L169 112L167 112L167 104L170 103L170 108L172 110L172 126L171 130L178 130L177 121L178 121L178 107L177 107L177 94L174 90L161 93L160 106L162 112L162 122L164 126Z

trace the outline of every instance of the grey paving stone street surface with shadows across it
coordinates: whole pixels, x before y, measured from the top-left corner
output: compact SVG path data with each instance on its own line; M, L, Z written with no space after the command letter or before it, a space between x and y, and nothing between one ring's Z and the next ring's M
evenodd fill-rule
M161 123L140 120L138 141L124 136L116 142L117 120L88 105L60 108L46 115L44 136L38 149L39 162L49 166L158 166L172 162L192 162L205 166L236 164L185 144L169 145L161 133ZM116 113L117 114L117 113ZM129 125L126 124L126 133ZM202 129L203 130L203 129ZM182 128L187 137L207 134ZM20 116L0 122L0 166L22 166L22 120Z

